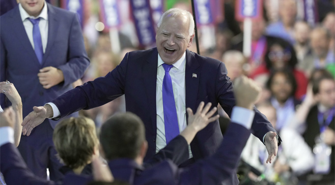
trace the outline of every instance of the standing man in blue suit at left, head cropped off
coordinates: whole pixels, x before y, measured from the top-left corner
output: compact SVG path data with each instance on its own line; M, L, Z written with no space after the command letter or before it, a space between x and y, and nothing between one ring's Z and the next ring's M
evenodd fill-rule
M26 116L34 105L44 105L72 89L72 82L81 78L90 62L76 14L44 0L19 3L0 17L0 81L15 84ZM0 102L9 106L4 96ZM52 143L57 122L43 121L30 137L22 136L18 146L27 166L40 177L46 178L46 168L51 179L61 175Z

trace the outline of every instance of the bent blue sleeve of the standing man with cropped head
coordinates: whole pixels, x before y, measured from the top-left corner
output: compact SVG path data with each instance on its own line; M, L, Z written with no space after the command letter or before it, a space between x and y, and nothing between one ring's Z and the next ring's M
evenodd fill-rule
M81 33L78 18L73 14L70 26L68 58L65 65L58 66L64 75L64 86L78 80L85 73L90 65L90 60L86 54L85 45Z

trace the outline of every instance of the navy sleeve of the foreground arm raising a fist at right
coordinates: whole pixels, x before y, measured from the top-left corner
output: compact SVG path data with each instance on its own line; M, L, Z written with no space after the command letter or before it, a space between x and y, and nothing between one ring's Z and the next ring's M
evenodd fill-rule
M226 180L236 173L236 168L250 132L232 122L225 138L213 156L180 169L176 177L180 184L227 184Z

